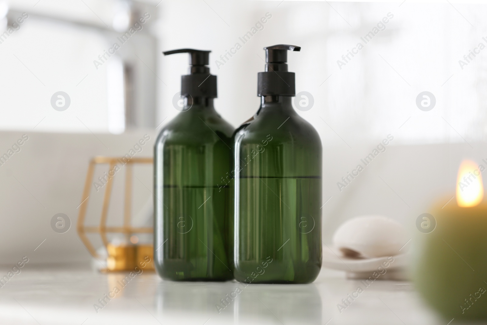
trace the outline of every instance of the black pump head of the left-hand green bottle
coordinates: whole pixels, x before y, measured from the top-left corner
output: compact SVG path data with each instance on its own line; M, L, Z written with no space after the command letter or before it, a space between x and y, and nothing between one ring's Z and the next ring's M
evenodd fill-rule
M209 54L211 51L180 49L163 52L164 55L189 53L189 75L181 76L181 96L217 97L216 76L210 75Z

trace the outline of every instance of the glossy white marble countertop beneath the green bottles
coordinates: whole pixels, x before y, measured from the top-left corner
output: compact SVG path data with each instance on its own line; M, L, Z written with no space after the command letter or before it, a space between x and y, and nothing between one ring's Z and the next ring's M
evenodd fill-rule
M0 268L6 274L6 269ZM237 282L162 281L144 271L120 282L128 273L103 274L89 268L23 268L0 287L0 324L320 324L447 325L421 301L412 284L375 281L347 308L337 304L360 285L338 271L323 269L310 285L248 285ZM129 277L130 278L130 277ZM217 304L242 291L220 313ZM109 295L102 305L98 299ZM94 304L100 306L95 310ZM451 325L456 325L455 321Z

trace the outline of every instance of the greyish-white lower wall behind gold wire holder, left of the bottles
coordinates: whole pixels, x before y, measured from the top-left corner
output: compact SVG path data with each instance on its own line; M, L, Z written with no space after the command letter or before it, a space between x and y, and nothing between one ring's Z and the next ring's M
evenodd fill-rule
M96 155L117 157L129 153L145 134L150 140L140 146L141 149L137 147L139 152L134 156L152 157L154 130L139 130L120 135L51 134L32 130L1 132L1 155L11 149L23 134L26 134L28 140L6 162L2 160L0 166L0 264L16 263L22 256L28 256L39 264L90 260L90 253L81 244L76 233L88 163ZM121 170L113 178L108 214L110 226L121 226L123 222L125 168L118 165ZM90 182L86 226L97 226L99 223L106 187L96 191L93 183L100 183L97 178L103 177L108 170L108 165L95 169L94 179ZM132 216L136 216L152 197L152 166L134 168L132 184ZM51 228L51 219L56 213L64 213L71 220L71 228L67 232L56 233ZM89 237L95 246L101 245L98 235Z

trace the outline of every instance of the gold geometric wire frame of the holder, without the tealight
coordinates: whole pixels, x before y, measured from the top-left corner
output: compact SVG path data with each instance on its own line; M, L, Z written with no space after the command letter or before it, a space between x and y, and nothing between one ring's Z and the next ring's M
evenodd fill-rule
M124 199L124 218L123 218L123 226L122 227L107 227L107 215L108 215L108 207L110 204L110 197L112 194L112 184L114 175L107 180L105 185L105 193L103 196L103 205L101 209L101 217L100 223L98 226L85 226L85 217L86 217L86 210L88 207L88 198L90 197L91 192L91 184L93 180L94 168L96 164L109 164L109 172L112 171L115 165L119 162L125 164L125 199ZM83 190L83 195L81 197L81 204L79 208L78 214L78 223L76 226L79 238L85 245L85 247L90 251L90 253L99 258L100 256L94 249L93 245L91 244L90 240L88 239L86 233L99 233L101 237L101 241L106 249L108 249L109 242L107 240L107 233L124 233L129 236L132 233L152 233L152 227L132 227L131 226L131 204L132 204L132 167L133 164L152 164L152 158L130 158L127 159L126 157L105 157L105 156L96 156L90 161L90 165L88 167L88 173L86 175L85 180L85 188Z

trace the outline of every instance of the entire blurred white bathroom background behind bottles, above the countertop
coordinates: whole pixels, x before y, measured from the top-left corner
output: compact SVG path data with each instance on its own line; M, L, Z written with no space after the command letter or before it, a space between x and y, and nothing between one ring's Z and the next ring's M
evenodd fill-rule
M430 2L0 1L0 31L7 31L0 34L0 155L14 151L0 160L0 264L16 263L41 242L32 264L91 260L76 233L88 163L131 150L152 156L158 132L179 113L173 99L187 73L187 55L168 60L161 52L186 47L212 50L215 106L237 127L259 107L262 48L301 46L288 63L296 91L307 93L295 106L323 145L324 242L360 214L414 229L439 192L453 191L462 159L487 166L487 7ZM431 93L428 107L417 100L423 92ZM144 136L150 140L137 145ZM375 149L365 166L361 159ZM363 171L344 182L359 164ZM107 171L100 166L95 177ZM151 172L134 171L131 211L140 225L152 200ZM116 177L111 225L123 218L123 173ZM103 188L96 190L88 222L99 218ZM63 234L51 229L56 213L70 218Z

